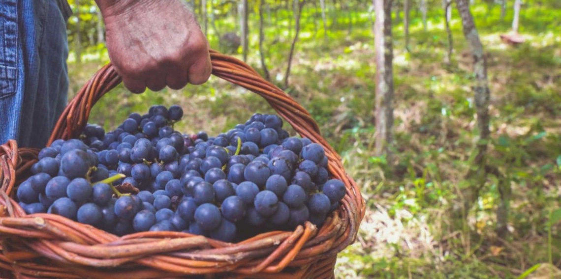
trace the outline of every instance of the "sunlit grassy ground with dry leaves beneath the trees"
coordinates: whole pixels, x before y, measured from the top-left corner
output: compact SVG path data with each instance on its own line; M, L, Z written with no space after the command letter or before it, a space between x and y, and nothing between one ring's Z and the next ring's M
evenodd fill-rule
M458 189L470 187L462 178L470 169L477 135L471 55L459 17L454 14L452 22L451 63L443 62L447 37L438 15L426 31L413 20L411 53L404 50L402 25L394 27L393 165L373 155L375 64L369 18L360 15L350 33L347 25L333 27L329 43L314 32L313 22L304 20L308 26L297 44L287 92L320 124L367 204L356 243L339 255L338 278L511 278L540 263L539 272L546 275L555 274L544 271L547 263L561 268L561 224L549 223L550 212L561 208L561 12L544 26L532 21L532 11L541 10L528 9L522 31L526 43L511 46L500 41L509 19L500 21L496 9L488 13L480 5L474 14L491 91L489 160L512 187L506 239L495 234L500 193L493 176L463 230L451 229L457 220L448 215ZM280 84L291 37L271 34L266 55ZM256 36L251 40L255 43ZM258 58L255 51L248 62L260 68ZM70 63L71 92L102 64L96 59ZM187 133L217 134L254 112L273 112L259 96L213 77L180 91L131 95L118 87L95 106L90 122L113 128L153 104L181 105L186 113L176 129Z

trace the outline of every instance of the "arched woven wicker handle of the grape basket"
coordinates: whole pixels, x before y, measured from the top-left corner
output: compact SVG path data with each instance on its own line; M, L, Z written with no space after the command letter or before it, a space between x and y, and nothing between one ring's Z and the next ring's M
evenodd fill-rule
M330 159L340 160L341 157L333 147L321 137L319 126L310 113L296 100L286 94L279 87L273 85L259 75L253 68L237 58L210 50L212 74L223 80L242 86L255 92L277 111L277 113L302 136L319 143L329 153ZM78 94L68 103L61 117L59 117L53 132L50 134L47 146L59 139L76 138L84 129L95 103L111 91L119 83L121 77L111 63L99 69Z

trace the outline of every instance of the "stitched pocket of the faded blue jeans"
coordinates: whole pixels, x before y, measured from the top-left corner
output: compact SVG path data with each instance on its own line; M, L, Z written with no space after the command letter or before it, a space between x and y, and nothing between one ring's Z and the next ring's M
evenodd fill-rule
M16 93L17 85L17 1L0 4L0 99Z

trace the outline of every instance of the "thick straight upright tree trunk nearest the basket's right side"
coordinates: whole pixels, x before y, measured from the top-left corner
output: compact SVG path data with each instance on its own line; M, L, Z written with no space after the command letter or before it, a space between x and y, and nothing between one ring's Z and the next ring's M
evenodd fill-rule
M392 143L393 126L393 46L392 0L373 0L376 18L374 22L374 48L376 59L376 138L377 156L386 155L390 162L389 145Z

